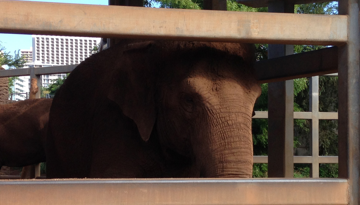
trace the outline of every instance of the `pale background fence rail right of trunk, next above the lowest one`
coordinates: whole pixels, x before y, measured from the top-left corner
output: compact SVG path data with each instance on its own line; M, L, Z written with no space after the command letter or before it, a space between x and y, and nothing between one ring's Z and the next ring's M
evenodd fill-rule
M255 116L252 118L267 118L267 111L255 111ZM311 120L311 112L294 112L294 119ZM319 120L337 120L337 112L319 112Z

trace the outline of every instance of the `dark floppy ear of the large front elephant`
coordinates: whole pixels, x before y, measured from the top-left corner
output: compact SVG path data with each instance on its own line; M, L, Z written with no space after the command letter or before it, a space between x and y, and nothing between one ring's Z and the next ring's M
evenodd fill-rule
M152 55L149 55L151 46L151 41L125 46L108 93L108 98L135 122L144 141L149 139L156 121L155 71L150 63Z

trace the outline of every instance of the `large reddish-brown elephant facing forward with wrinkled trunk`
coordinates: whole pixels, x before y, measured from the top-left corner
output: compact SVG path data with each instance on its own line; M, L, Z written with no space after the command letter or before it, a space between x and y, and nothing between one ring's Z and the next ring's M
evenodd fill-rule
M251 177L251 44L123 39L50 108L47 178Z

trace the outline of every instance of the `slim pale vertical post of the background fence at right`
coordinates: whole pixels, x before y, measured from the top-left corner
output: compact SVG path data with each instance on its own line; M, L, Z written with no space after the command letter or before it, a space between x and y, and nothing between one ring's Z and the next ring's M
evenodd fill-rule
M319 177L319 76L310 78L311 177Z

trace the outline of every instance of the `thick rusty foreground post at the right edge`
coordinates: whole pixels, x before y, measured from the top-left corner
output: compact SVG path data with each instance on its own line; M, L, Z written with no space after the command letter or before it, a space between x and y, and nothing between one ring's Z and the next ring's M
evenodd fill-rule
M338 48L339 178L348 178L348 204L359 204L359 0L339 1L348 43Z

